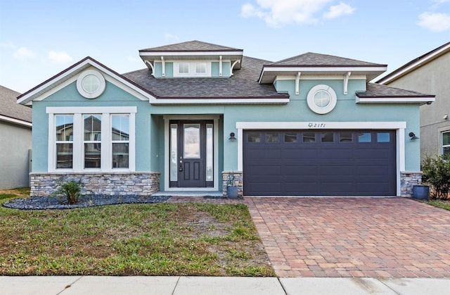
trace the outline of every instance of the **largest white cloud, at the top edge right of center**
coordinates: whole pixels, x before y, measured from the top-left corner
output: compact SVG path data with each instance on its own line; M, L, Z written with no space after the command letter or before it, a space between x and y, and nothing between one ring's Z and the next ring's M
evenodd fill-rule
M268 25L280 26L288 23L310 24L319 21L319 14L333 0L257 0L257 5L244 4L240 10L243 18L257 17ZM326 13L328 18L335 18L353 13L354 8L341 3L331 6Z

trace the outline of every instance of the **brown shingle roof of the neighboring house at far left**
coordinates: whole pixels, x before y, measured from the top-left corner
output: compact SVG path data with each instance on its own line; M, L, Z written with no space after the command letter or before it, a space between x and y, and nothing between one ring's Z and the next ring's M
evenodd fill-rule
M0 86L0 115L31 123L31 108L17 103L19 92Z

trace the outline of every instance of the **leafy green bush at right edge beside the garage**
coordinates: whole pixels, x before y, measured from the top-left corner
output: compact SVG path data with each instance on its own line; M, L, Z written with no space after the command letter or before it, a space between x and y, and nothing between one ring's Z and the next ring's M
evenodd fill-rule
M450 156L426 156L422 171L422 182L430 184L432 196L446 199L450 190Z

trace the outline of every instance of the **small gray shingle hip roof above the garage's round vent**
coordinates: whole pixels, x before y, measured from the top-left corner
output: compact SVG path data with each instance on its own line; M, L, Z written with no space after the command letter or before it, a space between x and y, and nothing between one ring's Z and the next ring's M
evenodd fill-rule
M378 63L368 63L366 61L357 61L351 58L342 58L339 56L330 56L327 54L315 54L313 52L307 52L306 54L300 54L300 56L294 56L286 58L281 61L276 61L266 66L303 66L303 67L380 67L386 65L380 65Z

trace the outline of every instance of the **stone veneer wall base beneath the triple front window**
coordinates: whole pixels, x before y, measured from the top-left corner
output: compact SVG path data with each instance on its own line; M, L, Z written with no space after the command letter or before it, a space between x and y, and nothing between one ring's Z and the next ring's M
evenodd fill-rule
M49 196L61 182L81 180L81 194L150 196L160 189L160 172L30 173L30 196Z

